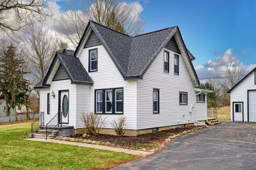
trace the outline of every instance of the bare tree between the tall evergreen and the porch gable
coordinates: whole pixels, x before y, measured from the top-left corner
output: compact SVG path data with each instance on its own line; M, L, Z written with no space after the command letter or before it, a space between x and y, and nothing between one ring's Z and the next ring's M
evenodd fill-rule
M37 80L44 79L58 49L57 35L42 25L30 25L24 36L26 56L30 64L30 71Z

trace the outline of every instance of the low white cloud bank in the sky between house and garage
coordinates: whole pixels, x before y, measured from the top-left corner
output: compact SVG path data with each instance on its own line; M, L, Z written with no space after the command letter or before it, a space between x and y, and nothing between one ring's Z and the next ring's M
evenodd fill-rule
M245 69L250 71L256 67L256 64L246 66L239 58L233 54L232 49L228 50L219 58L215 60L208 60L205 64L195 67L199 78L222 77L225 75L227 67Z

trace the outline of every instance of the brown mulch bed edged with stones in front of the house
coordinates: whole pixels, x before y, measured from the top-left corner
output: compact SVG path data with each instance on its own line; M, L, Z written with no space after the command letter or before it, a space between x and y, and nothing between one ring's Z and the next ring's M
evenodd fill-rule
M99 134L98 136L87 135L86 137L81 137L86 140L94 140L101 142L110 142L113 147L120 147L126 149L156 149L158 148L169 136L175 134L182 134L183 131L189 131L191 129L199 129L198 126L189 126L185 128L172 128L169 130L157 132L157 133L148 133L142 134L135 137L117 137L114 135Z

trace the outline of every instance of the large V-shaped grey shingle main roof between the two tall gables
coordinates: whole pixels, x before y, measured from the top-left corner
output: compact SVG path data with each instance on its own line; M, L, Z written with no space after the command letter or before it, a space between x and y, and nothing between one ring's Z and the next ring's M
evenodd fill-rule
M140 77L177 30L171 27L131 37L93 21L90 23L126 78Z

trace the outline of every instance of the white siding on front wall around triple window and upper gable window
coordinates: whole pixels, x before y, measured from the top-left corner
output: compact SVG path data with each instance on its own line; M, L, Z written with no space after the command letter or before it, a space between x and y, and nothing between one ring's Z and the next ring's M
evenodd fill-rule
M93 86L90 86L90 109L94 111L94 93L95 90L107 88L122 88L123 87L123 115L118 114L102 114L103 119L106 118L105 128L113 128L111 123L120 116L126 117L127 129L136 129L137 124L137 80L125 81L121 73L116 68L113 60L111 60L105 48L94 46L91 48L84 48L79 59L86 70L89 70L89 50L98 48L98 71L89 72L93 79ZM162 60L163 67L163 60ZM163 71L163 70L161 70ZM151 91L152 93L152 91ZM152 99L152 98L151 98ZM151 102L152 103L152 102ZM115 109L115 108L113 108ZM151 111L152 112L152 111ZM84 127L83 124L77 125L77 128Z

